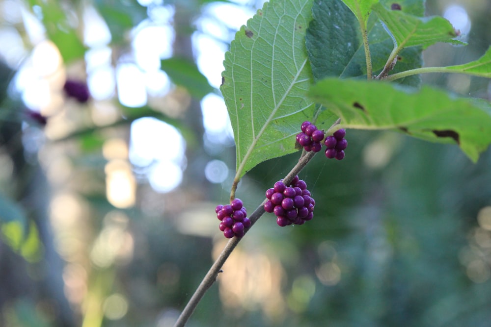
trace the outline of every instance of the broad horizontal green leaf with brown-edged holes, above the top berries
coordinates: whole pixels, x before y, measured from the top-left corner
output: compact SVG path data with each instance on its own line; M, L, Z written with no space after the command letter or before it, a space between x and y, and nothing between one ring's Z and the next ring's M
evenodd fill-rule
M358 129L393 129L433 142L458 144L474 162L491 143L487 101L451 98L424 86L420 91L385 82L326 78L309 96Z

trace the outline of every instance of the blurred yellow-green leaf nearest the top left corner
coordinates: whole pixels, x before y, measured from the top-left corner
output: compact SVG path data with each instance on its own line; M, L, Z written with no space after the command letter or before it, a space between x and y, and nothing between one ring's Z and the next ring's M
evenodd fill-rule
M61 8L59 1L30 0L29 3L32 8L40 9L35 11L37 17L43 22L49 39L60 51L65 64L82 58L85 47L72 27L68 15Z

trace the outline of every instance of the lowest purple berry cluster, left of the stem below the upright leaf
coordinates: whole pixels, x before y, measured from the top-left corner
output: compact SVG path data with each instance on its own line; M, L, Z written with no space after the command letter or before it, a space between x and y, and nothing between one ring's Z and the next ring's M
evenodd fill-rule
M226 238L234 236L242 237L246 229L250 227L250 219L247 218L247 211L244 203L240 199L234 199L230 204L217 205L215 208L217 218L220 220L220 230Z

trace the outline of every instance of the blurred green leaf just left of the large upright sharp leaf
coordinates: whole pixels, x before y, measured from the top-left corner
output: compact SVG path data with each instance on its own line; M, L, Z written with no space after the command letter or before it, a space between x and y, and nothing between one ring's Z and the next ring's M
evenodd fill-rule
M196 64L188 59L181 57L164 59L161 60L161 68L174 84L185 87L195 98L201 99L214 90Z

